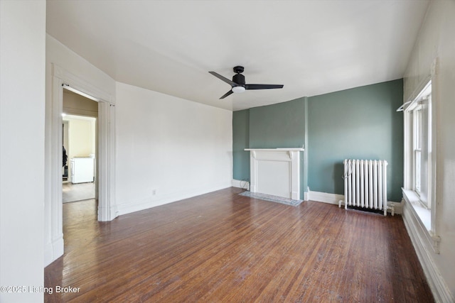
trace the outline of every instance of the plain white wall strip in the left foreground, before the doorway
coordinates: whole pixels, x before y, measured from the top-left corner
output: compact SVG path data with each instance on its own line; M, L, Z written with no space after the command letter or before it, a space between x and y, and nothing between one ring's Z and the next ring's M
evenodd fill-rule
M43 287L45 1L0 1L0 40L0 285Z

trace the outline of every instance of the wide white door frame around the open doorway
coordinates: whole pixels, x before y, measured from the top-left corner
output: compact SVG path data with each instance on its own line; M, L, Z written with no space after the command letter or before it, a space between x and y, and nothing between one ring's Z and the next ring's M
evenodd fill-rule
M62 112L63 86L76 90L98 102L98 221L111 221L118 215L115 202L115 104L112 95L89 82L52 64L52 97L50 116L50 238L51 260L63 255L63 203L62 203Z

